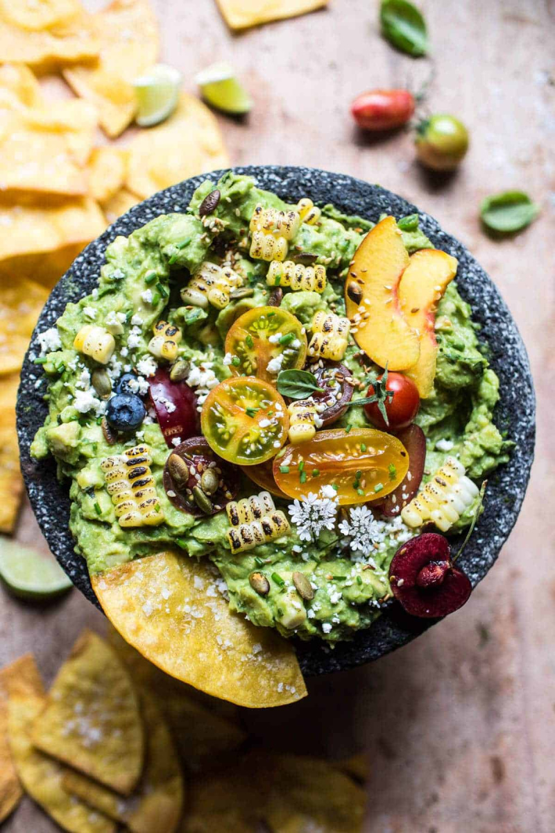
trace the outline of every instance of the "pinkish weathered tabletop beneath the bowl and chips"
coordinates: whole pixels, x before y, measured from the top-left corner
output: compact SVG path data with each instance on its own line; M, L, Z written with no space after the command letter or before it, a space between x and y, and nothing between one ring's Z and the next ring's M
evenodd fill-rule
M101 2L90 2L99 7ZM555 383L553 0L423 0L434 49L428 107L453 112L472 143L460 172L431 177L409 134L364 137L349 102L370 87L428 77L429 61L379 37L378 0L330 0L326 11L230 35L213 0L154 0L163 60L195 73L229 60L255 99L244 121L220 118L233 163L328 168L379 182L416 202L459 237L503 292L528 346L538 395L531 485L512 536L468 605L391 656L310 681L297 706L252 716L255 731L301 751L369 754L366 831L550 833L555 830ZM514 239L480 229L490 193L523 188L543 213ZM522 402L523 409L533 407ZM27 509L19 536L40 533ZM77 591L37 609L2 593L0 662L35 651L47 680L83 626L104 627ZM280 731L276 731L277 728ZM29 801L10 833L54 826ZM163 831L161 831L163 833Z

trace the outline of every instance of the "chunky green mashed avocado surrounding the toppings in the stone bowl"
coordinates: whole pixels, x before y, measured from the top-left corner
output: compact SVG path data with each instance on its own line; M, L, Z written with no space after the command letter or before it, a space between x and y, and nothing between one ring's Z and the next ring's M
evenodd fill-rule
M107 248L97 289L77 304L68 304L57 327L40 334L42 355L37 362L48 378L49 413L32 444L32 455L37 459L55 456L59 477L70 482L71 531L76 551L87 560L89 571L106 570L179 546L184 557L211 558L225 580L221 587L229 596L231 609L245 614L255 625L275 626L284 636L320 636L333 643L368 627L379 616L380 603L390 597L391 558L414 531L400 517L377 521L374 540L361 552L349 548L337 530L325 529L317 541L301 541L292 523L290 534L277 541L231 554L225 511L193 517L173 506L166 496L162 473L170 450L153 411L137 431L119 435L115 445L107 443L101 426L106 402L91 385L92 372L99 366L73 347L84 325L106 328L116 340L107 364L112 386L116 387L122 373L132 371L138 377L139 393L145 395L147 380L156 370L156 361L148 351L152 327L163 319L181 329L179 356L191 362L187 382L195 387L200 403L217 382L230 376L225 334L241 313L265 305L270 293L265 282L268 263L249 257L250 217L259 203L290 207L275 194L260 191L249 177L229 173L217 187L221 200L207 217L200 216L199 207L213 189L208 181L197 189L185 213L156 217L130 237L116 237ZM327 267L327 286L321 295L285 290L281 307L305 326L316 311L333 309L344 314L344 278L371 227L372 223L345 217L333 206L324 207L317 224L303 223L295 248L317 255L318 262ZM431 247L418 227L404 232L404 243L409 252ZM244 277L245 286L252 287L252 296L231 301L221 310L184 306L179 289L206 260L221 262L225 248L232 252L235 271ZM421 402L416 420L427 438L425 477L448 455L458 456L468 476L478 480L508 459L510 444L493 423L498 377L488 367L487 348L478 342L477 329L470 307L452 282L437 312L439 357L434 391ZM343 362L363 381L368 370L356 361L358 350L351 337ZM334 427L349 425L369 427L363 408L349 408ZM165 520L159 526L121 528L101 462L138 443L150 448L152 476ZM310 484L307 486L308 493ZM243 478L239 496L258 491L259 487ZM275 499L285 513L291 502ZM476 508L470 506L453 531L468 526ZM250 574L260 569L273 576L267 596L260 596L250 586ZM291 581L293 571L309 577L315 590L312 600L300 600ZM305 611L302 616L298 616L300 608ZM295 621L294 630L291 621Z

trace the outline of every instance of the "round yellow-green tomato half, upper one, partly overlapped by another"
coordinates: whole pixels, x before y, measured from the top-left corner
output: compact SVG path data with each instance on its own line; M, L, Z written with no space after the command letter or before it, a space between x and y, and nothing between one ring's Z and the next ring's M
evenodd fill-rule
M225 338L235 376L255 376L272 384L280 371L303 367L306 349L305 327L280 307L244 312Z

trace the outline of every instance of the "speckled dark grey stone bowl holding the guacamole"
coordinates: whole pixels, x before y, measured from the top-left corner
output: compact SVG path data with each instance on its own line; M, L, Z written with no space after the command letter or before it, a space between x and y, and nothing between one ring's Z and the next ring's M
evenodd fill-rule
M358 214L374 221L383 212L404 217L417 211L409 202L384 188L340 174L305 167L271 166L238 167L235 172L255 177L260 187L276 192L287 202L297 202L300 197L308 196L320 205L333 202L341 212ZM52 327L67 302L77 302L92 291L97 284L106 247L116 235L129 235L159 214L185 211L196 187L206 178L216 182L221 173L214 172L181 182L141 202L117 220L102 237L87 246L57 283L42 311L36 332ZM446 234L432 217L420 214L420 223L434 246L458 259L459 290L463 298L472 304L474 319L482 325L481 337L489 343L490 362L501 380L501 400L495 419L516 443L508 464L501 466L489 480L485 511L460 559L459 566L463 567L475 586L496 560L523 502L533 461L533 382L522 339L493 282L466 248ZM37 350L36 332L31 350ZM74 584L87 599L97 604L87 566L73 551L72 536L68 531L68 485L57 481L53 459L37 463L29 456L35 431L47 415L47 405L42 398L45 382L37 384L41 377L41 367L32 364L27 354L17 402L22 472L48 545ZM339 644L333 651L318 640L299 642L300 666L305 674L314 675L362 665L419 636L433 622L406 616L395 603L369 630L359 631L352 641Z

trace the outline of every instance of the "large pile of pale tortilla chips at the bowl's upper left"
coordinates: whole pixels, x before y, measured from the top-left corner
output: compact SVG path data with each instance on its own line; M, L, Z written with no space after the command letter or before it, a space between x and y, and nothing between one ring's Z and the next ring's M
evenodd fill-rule
M229 164L215 117L186 93L166 122L125 147L106 144L133 121L132 82L159 46L148 0L114 0L97 14L79 0L0 2L1 532L13 531L22 495L17 382L48 289L136 202ZM78 97L46 97L45 73Z

